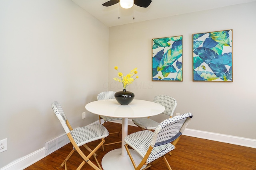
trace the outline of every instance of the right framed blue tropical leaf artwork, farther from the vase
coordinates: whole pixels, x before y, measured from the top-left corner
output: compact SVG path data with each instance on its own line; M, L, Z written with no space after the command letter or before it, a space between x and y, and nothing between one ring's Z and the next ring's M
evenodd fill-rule
M193 34L193 81L233 82L232 32Z

